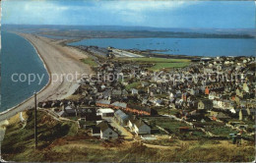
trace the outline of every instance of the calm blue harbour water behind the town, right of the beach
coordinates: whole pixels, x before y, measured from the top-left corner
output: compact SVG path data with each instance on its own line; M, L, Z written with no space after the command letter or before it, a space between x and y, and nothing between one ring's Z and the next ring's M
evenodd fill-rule
M211 57L253 56L256 51L256 39L253 38L93 38L72 42L69 45L164 50L158 53Z

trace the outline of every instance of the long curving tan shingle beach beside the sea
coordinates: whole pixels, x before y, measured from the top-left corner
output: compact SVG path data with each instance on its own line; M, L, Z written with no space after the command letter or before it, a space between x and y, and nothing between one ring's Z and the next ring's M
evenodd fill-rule
M21 36L28 39L37 50L40 58L50 75L72 74L82 75L91 74L93 71L89 65L84 64L80 59L87 58L82 51L58 44L52 39L35 36L28 33L20 33ZM80 76L78 76L78 79ZM69 89L75 84L75 81L54 81L49 80L48 84L37 93L37 102L53 99L63 99L66 97ZM7 120L17 113L30 109L34 106L34 99L29 98L20 105L2 112L0 122Z

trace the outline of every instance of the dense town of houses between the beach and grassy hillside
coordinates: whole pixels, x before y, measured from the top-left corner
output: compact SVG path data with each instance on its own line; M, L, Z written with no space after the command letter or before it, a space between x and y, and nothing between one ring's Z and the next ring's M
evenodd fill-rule
M254 142L254 57L201 57L156 71L154 62L144 62L149 58L112 49L81 48L91 54L96 76L78 81L67 99L41 101L39 110L99 139Z

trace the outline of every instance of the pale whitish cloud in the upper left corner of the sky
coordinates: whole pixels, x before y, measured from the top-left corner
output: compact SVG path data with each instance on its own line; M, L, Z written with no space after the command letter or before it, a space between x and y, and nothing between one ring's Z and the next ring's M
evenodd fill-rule
M58 5L55 1L42 0L5 0L3 5L3 23L6 24L42 24L68 23L63 17L70 11L69 6Z

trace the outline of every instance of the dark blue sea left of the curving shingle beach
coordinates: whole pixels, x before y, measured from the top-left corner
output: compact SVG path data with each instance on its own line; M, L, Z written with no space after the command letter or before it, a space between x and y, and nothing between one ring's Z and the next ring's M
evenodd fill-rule
M35 78L33 81L31 75L29 83L30 74L43 78L39 83L39 79ZM22 36L2 31L0 112L31 97L34 91L39 91L46 85L48 79L32 44Z

